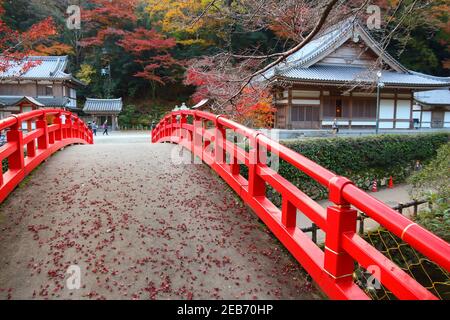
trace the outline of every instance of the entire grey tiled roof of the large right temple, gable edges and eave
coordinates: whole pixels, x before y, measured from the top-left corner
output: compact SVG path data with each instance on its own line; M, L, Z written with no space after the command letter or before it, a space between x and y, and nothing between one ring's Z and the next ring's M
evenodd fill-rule
M413 88L436 88L450 85L449 78L440 78L407 70L388 53L383 52L379 44L356 20L348 19L320 33L298 52L286 59L286 62L269 69L255 81L273 81L288 79L297 82L349 83L350 85L374 83L376 71L345 64L323 64L320 61L350 39L364 41L392 70L383 71L381 81L385 85Z

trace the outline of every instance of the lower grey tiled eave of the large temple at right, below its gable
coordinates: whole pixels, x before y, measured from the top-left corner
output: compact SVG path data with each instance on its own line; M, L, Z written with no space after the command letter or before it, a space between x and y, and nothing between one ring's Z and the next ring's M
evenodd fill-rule
M316 64L309 68L290 68L280 74L286 79L305 82L367 84L377 81L376 71L364 67ZM436 87L450 85L448 78L427 77L420 73L383 71L380 79L386 86Z

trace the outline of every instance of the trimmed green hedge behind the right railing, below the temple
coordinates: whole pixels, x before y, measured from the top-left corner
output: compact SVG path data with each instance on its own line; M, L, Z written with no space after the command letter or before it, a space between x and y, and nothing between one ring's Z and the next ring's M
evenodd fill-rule
M367 190L374 180L379 186L385 185L390 176L395 183L404 182L415 161L430 161L449 137L447 133L430 133L317 138L281 143ZM280 162L279 173L315 200L328 196L325 188L284 161ZM271 189L268 192L272 201L279 205L279 195Z

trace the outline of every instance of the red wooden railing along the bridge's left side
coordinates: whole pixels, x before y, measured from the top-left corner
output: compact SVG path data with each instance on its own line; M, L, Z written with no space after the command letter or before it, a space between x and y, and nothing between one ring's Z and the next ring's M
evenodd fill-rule
M24 129L24 127L26 127ZM0 203L42 161L70 144L92 144L92 132L76 115L60 109L41 109L0 120Z

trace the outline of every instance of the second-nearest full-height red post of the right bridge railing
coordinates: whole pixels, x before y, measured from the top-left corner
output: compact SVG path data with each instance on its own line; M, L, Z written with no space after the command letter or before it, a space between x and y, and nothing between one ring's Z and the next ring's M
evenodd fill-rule
M266 182L257 172L258 165L261 164L258 135L259 133L255 133L253 137L250 138L251 150L249 151L248 165L248 193L252 197L262 197L266 195Z

